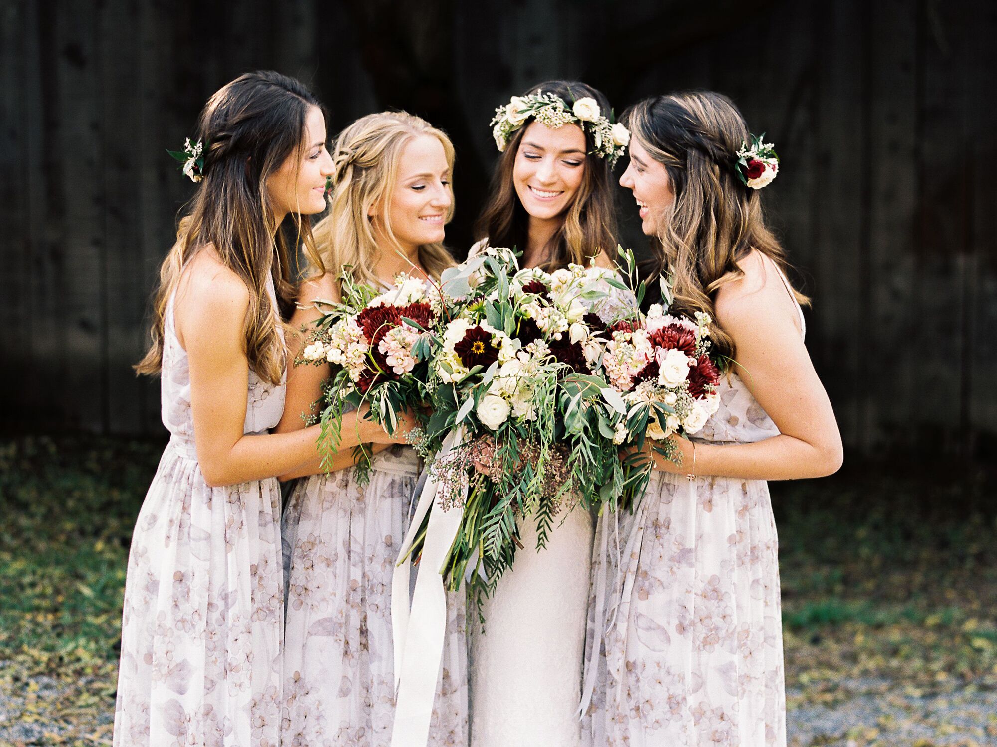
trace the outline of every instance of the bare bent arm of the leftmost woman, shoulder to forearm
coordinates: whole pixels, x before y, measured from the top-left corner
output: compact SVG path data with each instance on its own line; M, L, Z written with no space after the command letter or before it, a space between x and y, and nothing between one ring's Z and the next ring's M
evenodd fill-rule
M177 337L190 368L194 444L204 481L232 485L274 477L315 454L318 427L244 435L248 362L243 324L249 294L210 256L198 257L177 293Z

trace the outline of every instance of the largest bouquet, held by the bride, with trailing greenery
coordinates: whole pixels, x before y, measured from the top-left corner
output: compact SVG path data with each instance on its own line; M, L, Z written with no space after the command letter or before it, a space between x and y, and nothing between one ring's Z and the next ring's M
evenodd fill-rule
M626 402L596 372L608 331L634 310L611 270L519 270L503 248L448 270L442 285L451 321L441 324L429 363L434 413L417 446L439 454L431 471L440 508L463 511L442 571L449 588L469 566L482 572L475 583L494 588L521 547L517 516L535 522L542 548L565 503L622 496L611 423L625 416Z

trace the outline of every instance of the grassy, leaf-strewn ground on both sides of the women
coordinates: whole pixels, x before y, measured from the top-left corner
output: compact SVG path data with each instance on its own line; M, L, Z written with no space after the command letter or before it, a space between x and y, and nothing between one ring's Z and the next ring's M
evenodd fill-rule
M109 744L160 443L0 440L0 745ZM997 744L997 495L963 470L773 487L790 742Z

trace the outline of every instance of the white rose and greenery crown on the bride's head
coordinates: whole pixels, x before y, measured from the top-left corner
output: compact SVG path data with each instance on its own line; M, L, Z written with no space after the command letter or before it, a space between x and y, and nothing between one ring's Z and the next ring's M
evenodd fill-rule
M512 133L532 117L536 122L557 129L564 124L577 124L591 133L595 147L592 152L609 161L612 168L616 159L630 142L630 131L622 124L606 119L599 112L599 105L591 97L575 101L568 109L564 100L555 94L528 94L513 96L504 107L496 109L492 122L492 136L498 150L504 150Z

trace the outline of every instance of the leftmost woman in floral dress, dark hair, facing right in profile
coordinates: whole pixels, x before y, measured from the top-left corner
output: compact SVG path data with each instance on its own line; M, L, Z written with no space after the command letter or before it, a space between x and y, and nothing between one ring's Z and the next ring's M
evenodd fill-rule
M187 141L199 182L160 273L153 346L170 432L129 556L114 744L279 743L280 487L318 427L267 434L284 403L278 299L293 216L325 208L332 159L315 98L277 73L215 93Z

